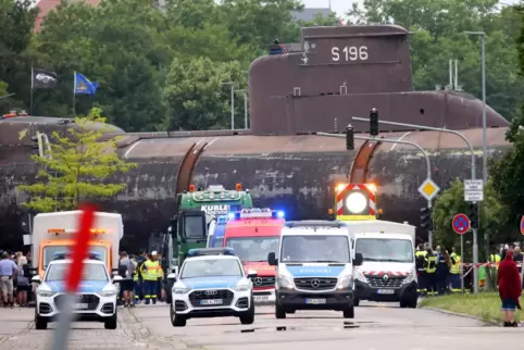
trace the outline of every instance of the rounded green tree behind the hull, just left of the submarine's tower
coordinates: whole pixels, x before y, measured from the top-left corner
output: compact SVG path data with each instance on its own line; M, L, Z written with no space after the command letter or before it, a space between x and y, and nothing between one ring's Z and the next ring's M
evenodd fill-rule
M235 89L246 86L239 62L212 62L208 58L198 58L184 64L175 59L164 90L169 104L169 129L201 130L230 126L230 85L224 84L228 82L237 83Z

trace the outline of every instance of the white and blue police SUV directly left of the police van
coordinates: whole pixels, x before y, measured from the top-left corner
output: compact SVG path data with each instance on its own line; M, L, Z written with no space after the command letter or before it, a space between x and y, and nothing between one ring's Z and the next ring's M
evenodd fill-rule
M174 276L172 276L174 278ZM171 323L184 327L188 318L236 316L254 322L253 284L230 248L191 249L173 285Z

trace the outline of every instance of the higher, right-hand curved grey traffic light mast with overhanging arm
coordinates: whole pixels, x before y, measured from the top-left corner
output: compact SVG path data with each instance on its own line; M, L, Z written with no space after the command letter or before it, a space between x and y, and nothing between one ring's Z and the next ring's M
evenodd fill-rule
M359 122L369 122L369 118L364 117L352 117L353 121L359 121ZM447 134L453 134L458 137L460 137L470 148L470 153L471 153L471 178L474 180L476 179L476 172L475 172L475 153L473 151L473 146L471 142L465 138L464 135L457 130L450 130L447 128L440 128L440 127L432 127L432 126L425 126L425 125L417 125L417 124L407 124L407 123L398 123L398 122L388 122L388 121L378 121L378 124L386 124L386 125L395 125L395 126L402 126L402 127L412 127L414 129L419 130L433 130L433 132L439 132L439 133L447 133ZM473 232L473 264L476 266L478 264L478 234L476 228L472 228ZM478 292L478 271L476 267L473 268L473 280L474 280L474 287L473 291L475 293Z

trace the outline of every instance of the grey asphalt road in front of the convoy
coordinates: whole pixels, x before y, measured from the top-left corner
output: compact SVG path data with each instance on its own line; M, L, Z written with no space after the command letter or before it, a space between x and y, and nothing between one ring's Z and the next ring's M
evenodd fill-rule
M354 320L329 311L297 311L276 320L273 307L258 307L253 325L241 325L235 317L197 318L182 328L171 325L166 304L118 311L116 330L97 323L73 324L70 349L492 350L516 346L523 332L387 303L362 303ZM0 310L2 349L49 349L53 327L34 329L33 315L33 309Z

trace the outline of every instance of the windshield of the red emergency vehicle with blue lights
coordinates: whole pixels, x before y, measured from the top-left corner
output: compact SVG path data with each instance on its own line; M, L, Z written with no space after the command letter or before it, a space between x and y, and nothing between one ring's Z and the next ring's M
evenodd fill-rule
M278 250L279 237L235 237L226 239L226 247L235 249L241 261L267 261L267 254Z

